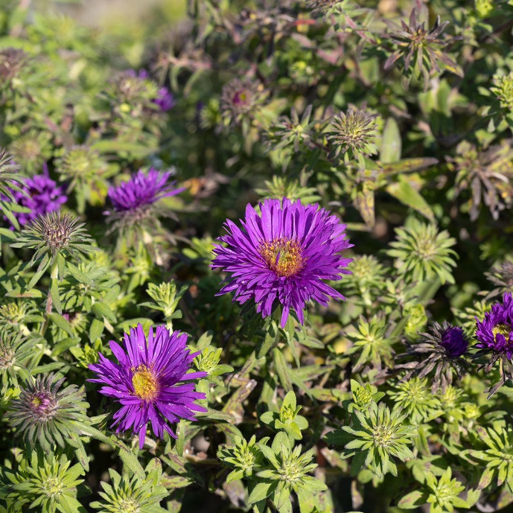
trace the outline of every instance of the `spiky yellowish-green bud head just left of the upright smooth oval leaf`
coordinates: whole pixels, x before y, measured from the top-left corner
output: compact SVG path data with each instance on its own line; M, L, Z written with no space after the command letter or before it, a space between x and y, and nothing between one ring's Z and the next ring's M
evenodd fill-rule
M375 118L376 116L365 110L353 108L336 115L327 136L333 147L330 155L337 157L342 152L344 162L349 163L351 159L356 159L363 167L364 156L378 153Z

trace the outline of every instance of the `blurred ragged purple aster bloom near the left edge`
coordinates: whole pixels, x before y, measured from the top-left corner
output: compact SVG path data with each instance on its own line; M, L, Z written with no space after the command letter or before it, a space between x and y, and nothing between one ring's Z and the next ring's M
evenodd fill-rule
M38 215L59 210L66 203L68 196L63 188L50 178L48 167L43 166L43 173L25 178L22 189L25 192L12 191L14 201L22 207L27 207L30 212L12 212L20 225L26 225Z

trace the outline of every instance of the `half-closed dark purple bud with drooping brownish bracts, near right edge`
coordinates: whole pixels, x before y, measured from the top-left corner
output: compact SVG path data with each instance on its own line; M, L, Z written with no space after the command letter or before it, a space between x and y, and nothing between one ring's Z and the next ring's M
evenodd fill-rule
M405 379L412 374L419 378L428 376L433 370L434 392L439 386L445 390L452 383L453 374L461 378L468 368L463 358L467 351L468 341L459 326L452 326L447 321L442 324L433 323L427 333L421 333L420 341L408 344L406 353L399 354L399 360L404 357L413 357L415 361L396 365L396 369L408 369Z

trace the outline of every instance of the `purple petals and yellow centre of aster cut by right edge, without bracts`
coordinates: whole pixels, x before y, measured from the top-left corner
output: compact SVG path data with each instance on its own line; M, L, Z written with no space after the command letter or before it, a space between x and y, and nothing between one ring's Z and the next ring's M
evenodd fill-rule
M505 293L502 303L492 305L480 321L476 318L475 347L503 354L508 360L513 356L513 298Z

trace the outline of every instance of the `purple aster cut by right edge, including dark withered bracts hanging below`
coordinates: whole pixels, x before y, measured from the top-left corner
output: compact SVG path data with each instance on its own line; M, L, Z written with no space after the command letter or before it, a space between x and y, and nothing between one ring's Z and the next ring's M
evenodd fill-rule
M491 305L491 310L484 314L484 319L476 318L475 348L472 355L479 367L489 372L499 362L500 380L487 388L488 397L491 397L506 381L513 380L513 298L511 292L505 293L502 303ZM488 361L481 363L482 359Z

